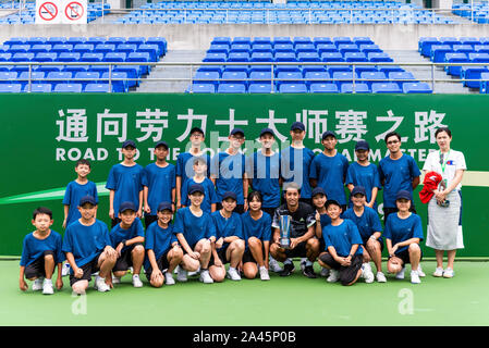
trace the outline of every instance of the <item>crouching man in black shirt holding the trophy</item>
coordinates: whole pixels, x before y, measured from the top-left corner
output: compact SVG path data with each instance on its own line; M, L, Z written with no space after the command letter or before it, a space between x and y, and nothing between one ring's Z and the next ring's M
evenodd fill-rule
M281 276L289 276L294 272L294 263L291 258L307 258L303 274L309 278L315 278L313 264L319 256L319 240L314 238L315 232L315 210L307 203L301 202L301 188L295 183L286 183L283 191L285 203L280 206L272 221L273 238L270 245L270 254L273 259L283 262ZM290 248L280 246L280 215L291 216Z

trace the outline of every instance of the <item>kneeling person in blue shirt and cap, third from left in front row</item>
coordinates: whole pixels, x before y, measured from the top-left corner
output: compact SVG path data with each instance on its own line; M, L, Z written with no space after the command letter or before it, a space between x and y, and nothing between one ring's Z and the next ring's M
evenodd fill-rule
M143 223L136 217L136 206L133 202L122 202L119 208L119 220L110 232L112 247L118 252L118 261L112 270L115 284L121 283L127 270L133 268L133 286L142 287L143 282L139 278L140 268L145 258L145 232Z

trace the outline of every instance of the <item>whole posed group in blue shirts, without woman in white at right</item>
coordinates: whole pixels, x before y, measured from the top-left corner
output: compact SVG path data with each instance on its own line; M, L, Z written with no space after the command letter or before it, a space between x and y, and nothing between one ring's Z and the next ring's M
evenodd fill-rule
M246 157L245 133L234 128L229 147L211 158L200 149L204 130L195 127L190 149L178 157L176 165L167 162L169 146L159 141L156 161L146 167L134 160L136 144L124 141L124 160L112 166L106 185L110 232L97 219L97 188L87 178L90 163L80 160L77 178L68 185L63 199L64 237L50 229L48 208L33 214L36 231L24 238L21 289L28 288L25 279L29 279L34 290L53 294L54 287L63 286L65 270L76 294L86 293L94 274L94 287L109 291L129 270L134 287L143 286L142 270L154 287L175 284L174 273L176 281L186 282L190 272L206 284L258 274L268 281L269 271L291 275L293 258L302 258L302 273L309 278L318 276L313 266L317 261L330 283L352 285L360 277L384 283L384 247L388 271L404 278L405 264L411 263L411 282L420 283L424 234L412 199L420 172L402 152L401 136L395 132L386 136L389 156L377 166L369 162L365 140L356 142L356 161L350 164L337 150L331 130L322 134L325 150L317 156L303 144L303 123L294 122L290 135L291 146L277 152L273 130L264 128L260 148ZM376 202L379 189L383 189L383 228ZM290 222L286 236L284 215Z

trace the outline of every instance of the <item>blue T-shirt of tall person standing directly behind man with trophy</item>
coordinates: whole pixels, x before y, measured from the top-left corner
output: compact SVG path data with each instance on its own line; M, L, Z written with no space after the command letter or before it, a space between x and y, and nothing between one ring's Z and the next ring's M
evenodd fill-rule
M310 198L309 167L315 153L308 148L295 149L292 146L282 150L281 174L284 183L294 182L301 187L301 198Z

